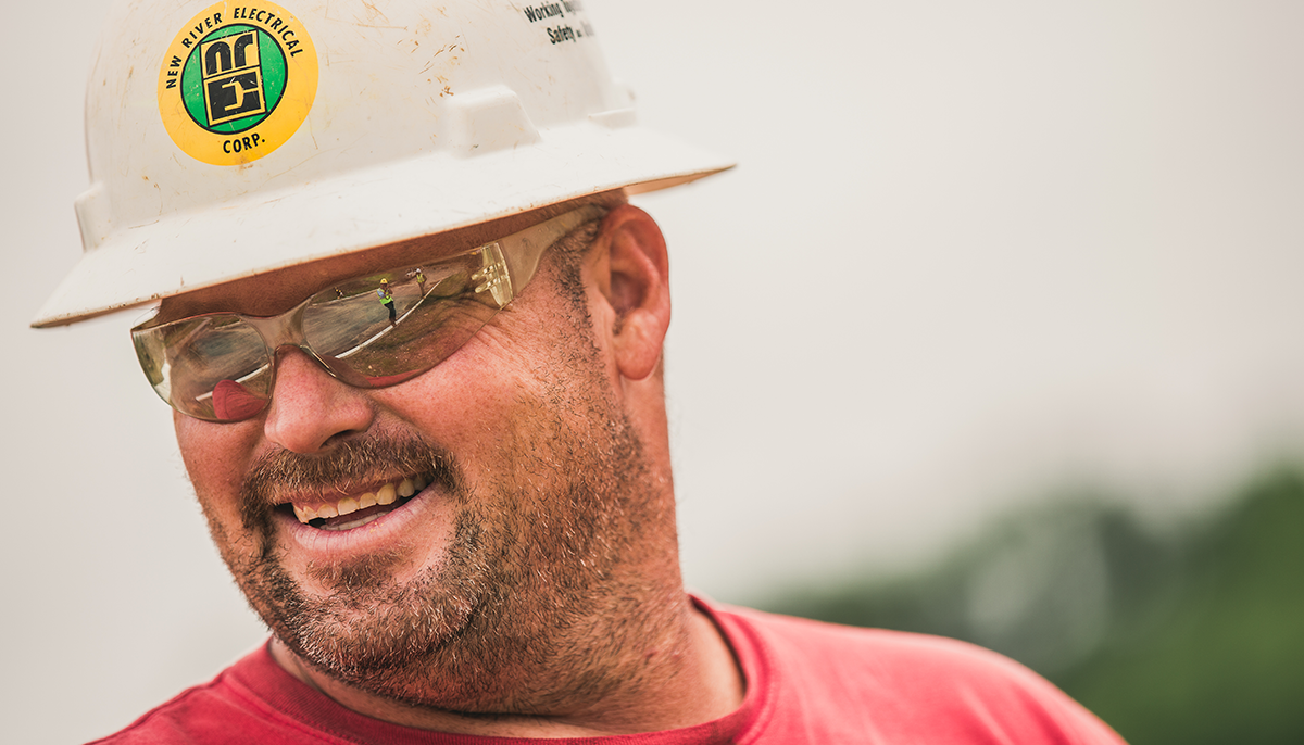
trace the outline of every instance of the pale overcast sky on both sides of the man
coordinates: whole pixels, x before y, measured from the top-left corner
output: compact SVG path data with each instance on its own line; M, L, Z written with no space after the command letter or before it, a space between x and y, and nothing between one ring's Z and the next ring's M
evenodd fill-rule
M640 121L739 163L636 201L670 245L691 586L906 568L1074 486L1171 520L1304 455L1304 5L587 5ZM106 10L18 4L0 46L14 742L106 735L265 633L140 314L26 328L80 254Z

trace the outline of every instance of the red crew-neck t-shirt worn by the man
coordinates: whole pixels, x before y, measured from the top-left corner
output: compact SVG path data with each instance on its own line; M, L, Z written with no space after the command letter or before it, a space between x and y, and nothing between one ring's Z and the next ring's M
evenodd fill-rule
M1028 668L940 637L855 629L695 600L724 632L747 681L742 706L668 732L550 744L818 745L1121 744L1099 719ZM363 716L293 679L266 645L100 740L106 745L505 745Z

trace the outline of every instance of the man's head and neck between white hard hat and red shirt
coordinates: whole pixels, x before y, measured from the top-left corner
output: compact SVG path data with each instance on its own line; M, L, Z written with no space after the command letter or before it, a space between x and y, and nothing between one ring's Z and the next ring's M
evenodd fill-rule
M660 729L737 707L728 647L690 611L674 564L657 369L664 244L645 214L602 199L610 210L561 207L489 244L511 253L529 236L544 247L570 233L484 326L497 301L467 281L482 259L426 246L429 293L395 288L411 305L393 333L422 330L400 343L387 344L369 292L334 307L349 302L336 288L406 274L353 279L372 257L168 298L137 331L138 348L172 358L249 323L214 309L286 314L276 323L291 341L246 361L254 378L235 374L266 391L259 410L239 422L179 413L176 430L222 556L274 629L273 658L303 682L357 711L452 732L580 733L613 714L612 731ZM432 241L482 242L464 232ZM266 337L270 324L257 323ZM314 344L331 341L326 323L359 331L344 343L352 354ZM411 379L374 387L370 363ZM274 382L258 388L259 375ZM657 703L640 712L643 699ZM662 711L668 701L683 706ZM494 718L469 727L467 714Z

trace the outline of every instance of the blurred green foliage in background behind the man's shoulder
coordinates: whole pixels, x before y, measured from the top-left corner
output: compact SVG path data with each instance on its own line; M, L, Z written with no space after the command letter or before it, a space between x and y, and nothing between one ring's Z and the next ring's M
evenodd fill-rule
M1099 499L1017 514L925 572L767 610L943 634L1037 669L1133 745L1304 744L1304 474L1154 530Z

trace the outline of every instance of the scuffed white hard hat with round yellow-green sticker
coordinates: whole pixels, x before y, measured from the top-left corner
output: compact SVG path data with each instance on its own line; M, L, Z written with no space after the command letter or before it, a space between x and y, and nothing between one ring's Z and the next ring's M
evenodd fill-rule
M110 13L85 255L33 326L730 167L638 126L580 0L279 1Z

